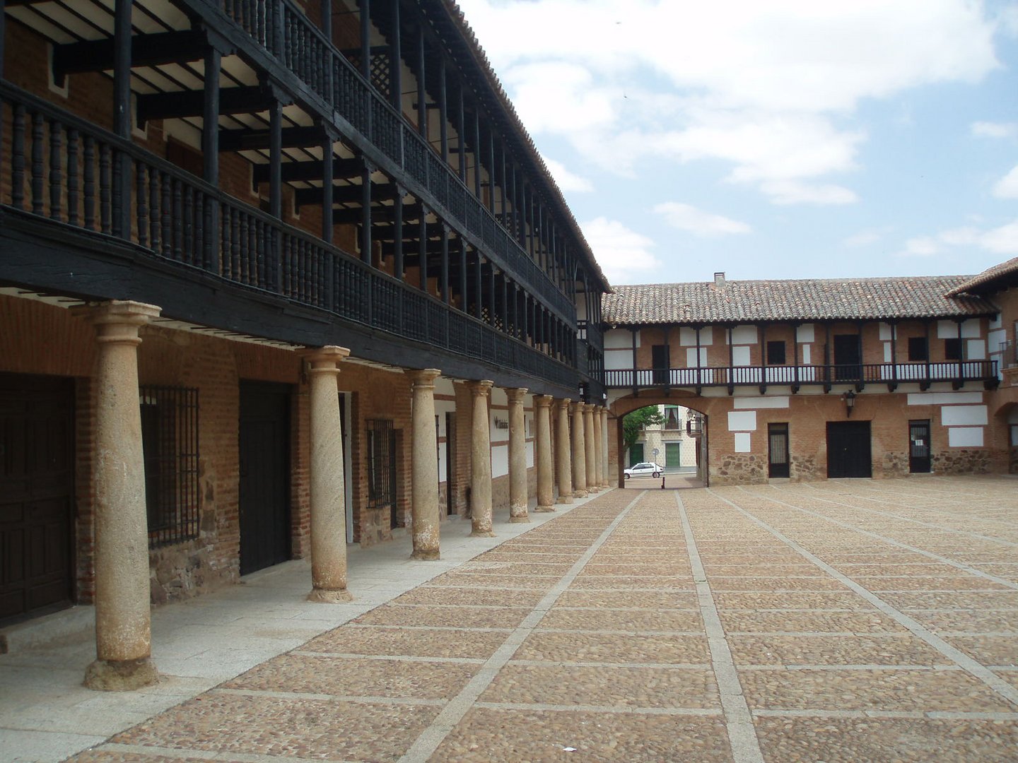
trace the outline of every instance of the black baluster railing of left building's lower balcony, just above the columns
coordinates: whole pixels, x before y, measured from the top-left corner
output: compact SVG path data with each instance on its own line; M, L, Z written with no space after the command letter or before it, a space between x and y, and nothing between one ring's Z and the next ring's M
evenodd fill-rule
M0 208L81 232L100 249L127 242L373 329L576 384L573 368L3 80Z

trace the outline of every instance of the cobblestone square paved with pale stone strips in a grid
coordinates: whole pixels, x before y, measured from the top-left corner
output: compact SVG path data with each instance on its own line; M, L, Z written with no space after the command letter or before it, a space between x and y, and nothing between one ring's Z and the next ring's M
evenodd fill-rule
M612 490L74 758L1018 761L1018 479Z

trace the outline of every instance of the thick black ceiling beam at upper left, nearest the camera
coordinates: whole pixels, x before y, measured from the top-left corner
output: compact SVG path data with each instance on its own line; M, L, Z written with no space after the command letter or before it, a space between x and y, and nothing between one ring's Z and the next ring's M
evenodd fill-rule
M205 34L195 30L134 35L130 41L131 66L201 61L208 47ZM113 68L115 55L114 38L55 45L53 80L60 86L67 74L108 71Z

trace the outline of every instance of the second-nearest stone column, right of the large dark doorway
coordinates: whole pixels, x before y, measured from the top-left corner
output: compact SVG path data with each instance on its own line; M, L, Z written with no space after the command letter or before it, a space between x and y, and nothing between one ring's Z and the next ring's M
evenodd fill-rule
M346 485L339 419L339 362L350 354L333 345L303 350L310 363L312 592L308 601L350 601L346 590Z

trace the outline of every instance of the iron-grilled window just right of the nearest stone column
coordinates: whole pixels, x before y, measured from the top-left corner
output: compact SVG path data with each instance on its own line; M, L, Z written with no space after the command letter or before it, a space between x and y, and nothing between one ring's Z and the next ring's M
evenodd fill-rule
M197 390L142 386L149 547L197 537Z

